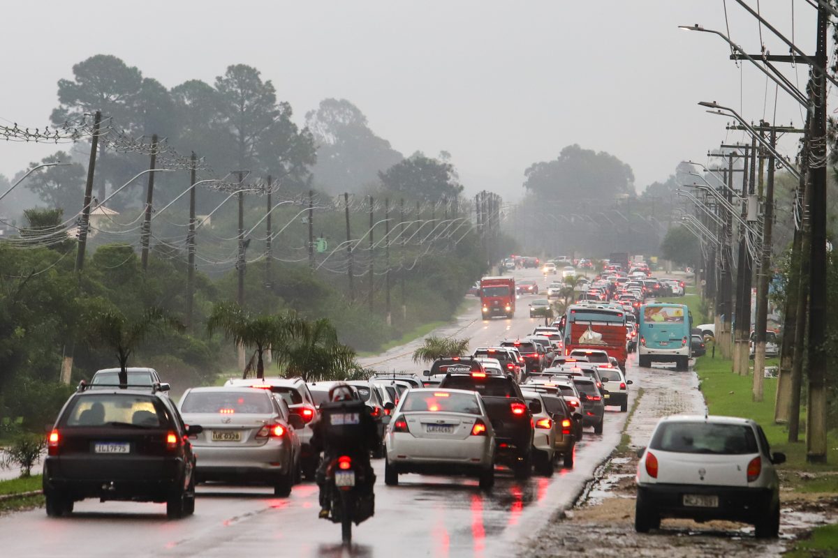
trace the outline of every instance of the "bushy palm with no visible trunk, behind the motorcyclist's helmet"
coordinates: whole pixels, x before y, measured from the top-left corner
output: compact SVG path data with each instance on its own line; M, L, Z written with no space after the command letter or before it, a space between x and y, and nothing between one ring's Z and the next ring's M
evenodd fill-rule
M326 318L299 320L292 335L272 352L286 376L303 381L348 379L358 368L355 351L339 343L337 330Z

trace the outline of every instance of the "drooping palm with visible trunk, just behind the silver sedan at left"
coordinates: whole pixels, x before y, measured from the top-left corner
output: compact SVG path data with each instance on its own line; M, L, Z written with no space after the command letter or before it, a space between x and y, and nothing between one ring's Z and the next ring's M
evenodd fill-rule
M265 377L265 351L282 346L297 330L302 327L302 321L290 312L277 315L251 315L242 310L235 302L222 302L213 306L212 313L207 319L209 335L215 331L224 332L225 338L230 339L236 346L253 348L253 356L247 362L242 378L246 378L254 366L256 377ZM254 360L256 362L254 362Z

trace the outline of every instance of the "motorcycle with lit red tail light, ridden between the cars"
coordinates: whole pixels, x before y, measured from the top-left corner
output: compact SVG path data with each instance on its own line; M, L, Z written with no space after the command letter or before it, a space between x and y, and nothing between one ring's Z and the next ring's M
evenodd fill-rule
M352 542L352 524L359 525L375 514L375 494L370 472L360 463L354 463L348 455L333 459L326 468L326 486L330 513L328 519L341 525L344 544Z

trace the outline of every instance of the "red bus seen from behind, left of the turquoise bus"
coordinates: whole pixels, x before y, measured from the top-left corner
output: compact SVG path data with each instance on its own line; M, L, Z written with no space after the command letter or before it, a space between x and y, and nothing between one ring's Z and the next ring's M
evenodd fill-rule
M565 323L565 354L574 349L601 349L625 371L629 356L623 310L606 305L572 305Z

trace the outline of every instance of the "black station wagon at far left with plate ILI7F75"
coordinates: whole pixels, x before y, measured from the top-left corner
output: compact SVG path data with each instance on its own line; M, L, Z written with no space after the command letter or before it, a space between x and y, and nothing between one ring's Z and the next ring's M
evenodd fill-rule
M165 502L169 518L195 509L195 455L177 407L147 386L85 389L59 412L44 459L47 515L85 498Z

